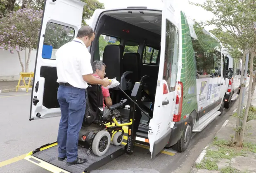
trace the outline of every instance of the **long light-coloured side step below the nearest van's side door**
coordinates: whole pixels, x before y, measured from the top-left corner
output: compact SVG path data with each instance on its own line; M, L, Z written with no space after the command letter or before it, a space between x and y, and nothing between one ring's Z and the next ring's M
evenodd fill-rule
M204 115L204 117L201 117L199 120L197 120L196 125L193 129L193 132L196 132L196 133L201 132L208 124L210 124L220 114L221 114L220 111L213 110L208 114Z

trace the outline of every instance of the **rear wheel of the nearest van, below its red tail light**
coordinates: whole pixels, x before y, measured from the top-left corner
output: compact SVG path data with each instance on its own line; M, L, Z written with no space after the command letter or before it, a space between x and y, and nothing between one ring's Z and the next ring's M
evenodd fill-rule
M181 138L178 140L177 143L173 145L174 150L178 152L184 152L185 150L187 150L187 147L190 144L190 140L192 137L192 127L193 127L193 120L190 119L190 122L187 123Z

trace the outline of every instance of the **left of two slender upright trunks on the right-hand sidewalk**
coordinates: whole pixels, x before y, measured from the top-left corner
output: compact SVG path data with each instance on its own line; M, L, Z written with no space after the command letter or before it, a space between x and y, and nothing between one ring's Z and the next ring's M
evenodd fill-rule
M241 112L241 105L242 105L242 93L244 91L243 83L244 83L244 64L245 64L245 56L247 51L243 51L243 57L242 57L242 69L241 69L241 78L240 78L240 93L239 93L239 102L238 102L238 108L237 108L237 123L236 123L236 131L235 131L235 142L237 143L239 141L240 131L238 130L241 126L241 119L240 119L240 112Z

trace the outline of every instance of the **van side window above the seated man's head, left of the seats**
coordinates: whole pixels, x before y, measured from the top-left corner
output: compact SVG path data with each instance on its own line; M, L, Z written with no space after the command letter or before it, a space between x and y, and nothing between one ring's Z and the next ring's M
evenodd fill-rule
M100 61L102 61L103 59L103 53L104 53L104 49L107 45L109 44L116 44L116 45L120 45L120 39L116 38L116 37L111 37L109 35L100 35L99 38L99 54L100 54ZM96 58L95 60L99 60L99 58Z

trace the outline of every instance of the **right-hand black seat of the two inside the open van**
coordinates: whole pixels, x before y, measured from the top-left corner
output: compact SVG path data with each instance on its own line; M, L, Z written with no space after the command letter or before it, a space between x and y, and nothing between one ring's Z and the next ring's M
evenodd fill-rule
M121 76L121 88L132 90L135 82L140 81L140 54L126 52L123 55L123 74Z

